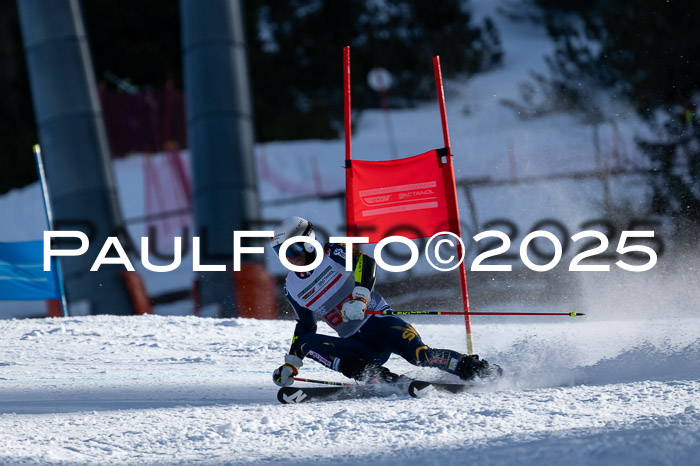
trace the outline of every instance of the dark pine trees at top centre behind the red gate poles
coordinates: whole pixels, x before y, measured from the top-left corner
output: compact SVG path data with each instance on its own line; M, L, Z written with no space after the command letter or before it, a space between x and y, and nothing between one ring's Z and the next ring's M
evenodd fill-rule
M353 109L378 107L366 77L394 77L392 106L432 98L431 57L446 76L500 63L489 20L473 24L465 2L290 0L248 2L248 40L258 139L335 138L342 132L342 47L352 53Z

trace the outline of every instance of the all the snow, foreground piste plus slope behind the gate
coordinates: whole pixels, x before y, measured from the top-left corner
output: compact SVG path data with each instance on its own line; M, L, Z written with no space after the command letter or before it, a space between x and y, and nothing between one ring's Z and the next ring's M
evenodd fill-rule
M481 16L493 15L501 2L472 3ZM599 128L596 153L593 128L575 118L521 121L501 105L501 99L518 97L530 70L544 70L551 43L532 24L492 17L505 48L504 66L446 83L458 182L572 174L618 162L627 169L644 166L633 143L643 129L625 112L616 116L617 129ZM442 146L436 103L393 111L391 118L400 154ZM382 112L364 112L355 125L354 156L389 158L385 128ZM616 151L619 159L612 155ZM263 217L302 215L342 233L338 200L318 199L343 190L342 159L342 140L258 145ZM156 172L167 173L164 156L151 160ZM143 167L138 156L114 163L127 219L147 213ZM638 176L608 182L607 199L599 178L475 186L474 211L460 185L464 239L494 219L519 229L512 238L516 253L522 237L545 219L560 222L568 236L601 228L601 220L623 229L644 211L647 188ZM315 199L277 202L297 196ZM0 241L41 239L46 223L37 184L0 197L0 211ZM599 223L585 227L592 220ZM662 225L656 231L666 239ZM143 236L145 225L130 224L130 232ZM609 252L616 244L611 238ZM551 297L535 309L518 302L477 306L475 311L587 315L475 317L477 352L501 364L506 375L473 393L421 400L279 405L270 374L289 347L291 321L175 317L192 313L189 302L158 307L160 316L0 320L0 463L698 464L700 274L696 257L666 246L650 272L584 272L564 286L529 284ZM566 264L575 252L570 247L548 273L572 276ZM283 272L279 264L268 265L273 273ZM520 286L515 279L522 264L514 265L513 272L494 278L495 288ZM140 271L151 295L187 289L191 256L176 272ZM414 276L424 271L418 266ZM380 276L383 283L394 280ZM411 290L392 304L405 306L414 294L428 292ZM482 293L483 286L470 286L473 302ZM0 316L41 315L44 309L43 302L3 302ZM428 344L465 350L459 318L413 322ZM411 376L441 376L398 358L388 364ZM342 378L312 362L302 370L308 377Z

